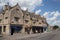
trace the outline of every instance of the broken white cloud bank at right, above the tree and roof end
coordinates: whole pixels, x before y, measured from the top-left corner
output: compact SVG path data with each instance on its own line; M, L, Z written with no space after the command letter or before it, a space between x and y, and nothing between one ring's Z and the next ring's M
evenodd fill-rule
M60 23L60 12L59 11L53 11L53 12L45 12L43 16L46 17L47 22L50 25L59 25ZM59 20L58 20L59 19ZM59 25L60 26L60 25Z

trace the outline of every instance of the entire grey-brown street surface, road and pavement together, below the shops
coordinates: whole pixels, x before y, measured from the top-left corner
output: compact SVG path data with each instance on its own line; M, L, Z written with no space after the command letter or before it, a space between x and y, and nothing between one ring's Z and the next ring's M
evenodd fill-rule
M4 36L3 40L60 40L60 30L53 32L37 33L37 34L14 34L12 36Z

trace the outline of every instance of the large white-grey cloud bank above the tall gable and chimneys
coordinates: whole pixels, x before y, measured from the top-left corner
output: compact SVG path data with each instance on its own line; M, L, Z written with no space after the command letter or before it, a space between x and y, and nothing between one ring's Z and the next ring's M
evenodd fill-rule
M11 6L16 5L19 3L22 9L28 8L29 11L33 11L36 6L42 5L42 0L2 0L2 2L6 3L9 2ZM3 5L3 4L2 4Z

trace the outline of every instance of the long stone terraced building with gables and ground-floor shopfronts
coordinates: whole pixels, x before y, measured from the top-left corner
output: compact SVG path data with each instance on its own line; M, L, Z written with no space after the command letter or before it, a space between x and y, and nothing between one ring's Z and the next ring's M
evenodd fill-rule
M35 13L23 11L18 4L11 7L4 5L0 13L0 34L40 33L47 29L46 18Z

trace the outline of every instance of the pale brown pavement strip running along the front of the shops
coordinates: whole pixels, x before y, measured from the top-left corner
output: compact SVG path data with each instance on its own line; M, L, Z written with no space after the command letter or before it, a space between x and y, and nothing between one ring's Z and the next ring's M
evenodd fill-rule
M35 38L37 36L41 36L46 34L47 32L44 32L44 33L36 33L36 34L20 34L20 33L17 33L17 34L14 34L14 35L4 35L2 37L3 40L29 40L30 38Z

